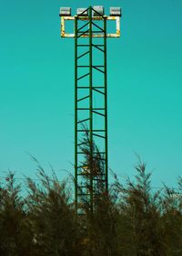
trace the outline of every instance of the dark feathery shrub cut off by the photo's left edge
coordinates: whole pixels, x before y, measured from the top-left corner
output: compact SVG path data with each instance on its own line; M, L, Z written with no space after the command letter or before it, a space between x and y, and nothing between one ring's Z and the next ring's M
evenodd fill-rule
M0 187L0 255L34 255L31 223L20 191L15 175L10 172L5 178L5 186Z

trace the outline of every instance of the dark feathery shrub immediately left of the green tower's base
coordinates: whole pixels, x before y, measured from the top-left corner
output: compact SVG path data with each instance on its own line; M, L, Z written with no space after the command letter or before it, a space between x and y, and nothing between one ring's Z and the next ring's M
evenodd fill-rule
M45 175L40 165L38 178L39 185L27 178L26 198L37 255L76 255L76 214L66 181Z

